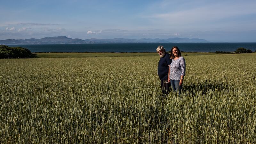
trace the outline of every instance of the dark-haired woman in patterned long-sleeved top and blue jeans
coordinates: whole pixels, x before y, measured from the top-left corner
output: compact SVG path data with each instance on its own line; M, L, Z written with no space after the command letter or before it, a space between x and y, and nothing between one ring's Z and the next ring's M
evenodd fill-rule
M173 91L179 91L180 95L186 73L186 62L177 46L172 47L170 59L172 59L172 63L169 67L168 82L171 83Z

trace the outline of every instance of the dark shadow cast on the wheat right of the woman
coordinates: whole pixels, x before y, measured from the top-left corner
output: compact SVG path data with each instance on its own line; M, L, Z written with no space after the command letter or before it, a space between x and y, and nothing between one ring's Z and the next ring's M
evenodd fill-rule
M190 92L194 96L196 92L202 92L205 95L209 90L225 91L229 92L231 87L227 83L222 81L205 81L203 83L192 83L189 85L183 85L183 92Z

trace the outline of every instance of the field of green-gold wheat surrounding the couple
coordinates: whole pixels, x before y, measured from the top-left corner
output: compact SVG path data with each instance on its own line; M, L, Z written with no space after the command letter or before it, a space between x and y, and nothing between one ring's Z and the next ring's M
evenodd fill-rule
M159 57L0 60L0 143L254 143L255 56L185 56L181 99Z

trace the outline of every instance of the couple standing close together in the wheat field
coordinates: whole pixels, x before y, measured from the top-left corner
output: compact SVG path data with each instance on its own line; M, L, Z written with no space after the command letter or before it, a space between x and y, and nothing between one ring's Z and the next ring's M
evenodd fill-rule
M161 80L162 96L168 95L170 86L174 92L178 92L180 95L186 73L186 62L181 56L179 48L173 46L171 54L169 54L162 45L159 45L156 52L160 56L157 74Z

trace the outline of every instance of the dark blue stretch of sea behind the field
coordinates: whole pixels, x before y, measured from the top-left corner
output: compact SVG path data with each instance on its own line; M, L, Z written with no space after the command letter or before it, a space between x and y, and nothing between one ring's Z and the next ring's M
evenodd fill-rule
M167 51L172 46L178 46L184 52L234 52L239 47L256 49L256 43L139 43L139 44L30 44L8 45L20 46L31 52L156 52L158 45L163 45Z

